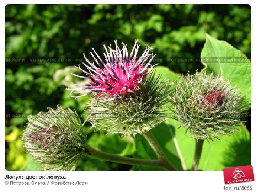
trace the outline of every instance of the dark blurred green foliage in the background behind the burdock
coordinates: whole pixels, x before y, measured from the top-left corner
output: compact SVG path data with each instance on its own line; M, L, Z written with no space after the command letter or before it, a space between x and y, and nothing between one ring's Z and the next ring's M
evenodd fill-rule
M202 69L200 63L170 62L200 56L205 33L224 39L251 58L251 7L248 5L7 5L5 58L78 57L117 39L131 48L135 39L156 47L157 63L176 73ZM140 53L143 48L140 49ZM102 54L100 54L102 55ZM28 114L61 104L84 114L86 101L65 87L77 81L74 63L5 62L5 167L20 170L27 161L20 135ZM22 116L20 116L22 114ZM81 116L82 118L83 116ZM89 126L89 125L88 125ZM134 143L116 135L89 135L95 147L132 156ZM113 146L118 143L118 148ZM113 151L114 150L114 151ZM131 166L90 160L78 170L129 170Z

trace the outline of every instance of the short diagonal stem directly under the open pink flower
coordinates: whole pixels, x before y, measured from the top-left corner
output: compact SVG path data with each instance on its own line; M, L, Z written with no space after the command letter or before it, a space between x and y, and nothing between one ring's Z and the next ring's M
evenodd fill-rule
M176 170L175 167L173 167L166 159L166 156L164 155L164 152L163 152L161 146L159 145L159 143L157 142L157 140L155 139L154 135L152 135L152 133L150 131L148 131L148 132L144 133L143 136L148 141L148 143L150 144L152 149L155 151L162 166L168 170Z

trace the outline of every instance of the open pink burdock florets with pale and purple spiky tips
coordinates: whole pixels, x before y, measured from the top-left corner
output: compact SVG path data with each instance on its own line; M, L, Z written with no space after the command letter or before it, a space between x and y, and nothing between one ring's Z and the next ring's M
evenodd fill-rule
M72 75L82 79L90 79L90 81L88 84L75 84L81 85L81 87L68 89L71 90L71 93L81 94L73 97L79 98L95 92L96 98L106 96L107 99L105 101L111 101L119 96L124 96L129 92L133 93L135 90L138 90L140 86L143 86L142 79L148 75L157 64L150 64L155 56L153 53L149 54L149 51L153 49L153 47L146 45L143 54L140 57L137 56L140 47L140 45L137 44L137 41L138 40L135 41L133 49L129 55L127 44L122 43L123 48L120 50L116 40L114 41L116 50L113 50L111 45L108 49L104 45L106 51L104 53L104 59L100 58L93 48L92 50L94 53L90 52L94 59L92 63L84 54L87 64L82 64L84 64L87 71L82 69L80 64L75 67L84 72L86 76Z

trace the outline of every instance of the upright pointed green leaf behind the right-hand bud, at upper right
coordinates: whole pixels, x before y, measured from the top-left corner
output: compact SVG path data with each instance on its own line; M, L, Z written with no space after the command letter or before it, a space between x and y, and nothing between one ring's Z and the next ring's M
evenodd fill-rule
M212 58L229 58L231 62L224 63L226 61L218 60L212 63ZM229 43L206 34L206 43L201 52L201 59L208 72L223 75L224 78L230 80L231 84L245 96L246 101L251 103L251 62L245 54ZM250 106L247 107L250 108Z

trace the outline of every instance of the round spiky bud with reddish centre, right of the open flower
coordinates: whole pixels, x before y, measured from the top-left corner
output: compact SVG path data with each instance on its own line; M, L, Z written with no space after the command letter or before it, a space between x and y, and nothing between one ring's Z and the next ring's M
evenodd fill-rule
M171 100L175 117L196 139L231 135L242 124L241 95L222 76L182 76Z

